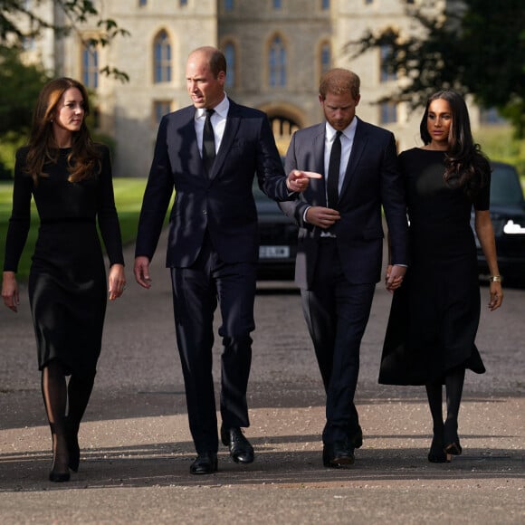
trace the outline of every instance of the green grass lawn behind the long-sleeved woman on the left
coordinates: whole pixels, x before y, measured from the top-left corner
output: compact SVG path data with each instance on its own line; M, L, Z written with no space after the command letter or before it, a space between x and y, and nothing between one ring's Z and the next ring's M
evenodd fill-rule
M124 244L133 243L137 235L138 215L142 205L142 196L146 186L145 178L114 178L113 186L115 189L115 204L119 212L120 229L122 231L122 241ZM13 183L9 181L0 182L0 260L4 265L5 234L9 217L11 215L11 205L13 197ZM31 266L31 256L34 250L34 243L38 234L38 215L34 203L32 204L31 230L25 243L24 253L18 266L17 277L24 281L29 275ZM127 261L129 265L131 262Z

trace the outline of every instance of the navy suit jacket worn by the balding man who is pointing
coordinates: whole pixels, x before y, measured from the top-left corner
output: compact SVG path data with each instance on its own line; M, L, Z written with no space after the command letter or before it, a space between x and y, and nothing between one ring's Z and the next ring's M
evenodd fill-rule
M224 136L208 177L196 142L195 111L188 106L160 122L138 223L136 256L152 259L175 188L168 267L195 262L206 229L224 262L256 262L254 174L267 196L289 198L270 123L262 111L230 100Z

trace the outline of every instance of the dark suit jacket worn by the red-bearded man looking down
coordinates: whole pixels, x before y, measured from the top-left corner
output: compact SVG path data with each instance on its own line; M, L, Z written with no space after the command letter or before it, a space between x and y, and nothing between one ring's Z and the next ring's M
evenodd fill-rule
M297 131L286 155L287 173L294 168L324 173L324 143L324 122ZM324 178L310 179L310 186L296 200L280 203L282 211L300 226L295 278L303 289L308 289L313 279L321 233L319 227L303 220L308 205L327 205ZM381 205L391 237L392 262L406 264L406 205L394 135L358 119L339 195L341 218L334 228L348 282L380 280L384 237Z

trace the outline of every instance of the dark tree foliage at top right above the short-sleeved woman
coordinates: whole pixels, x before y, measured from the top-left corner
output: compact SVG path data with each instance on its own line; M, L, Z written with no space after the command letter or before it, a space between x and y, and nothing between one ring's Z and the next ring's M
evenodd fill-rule
M482 108L497 108L516 134L525 136L525 2L447 4L439 14L425 4L407 5L417 32L394 27L367 32L348 43L347 51L355 57L374 48L389 50L383 65L404 81L384 100L407 101L414 109L440 89L470 93Z

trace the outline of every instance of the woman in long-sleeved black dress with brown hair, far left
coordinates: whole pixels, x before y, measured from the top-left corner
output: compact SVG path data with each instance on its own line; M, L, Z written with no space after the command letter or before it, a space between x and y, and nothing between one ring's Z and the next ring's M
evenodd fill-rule
M110 152L92 142L85 123L89 112L80 82L62 78L43 87L29 144L16 153L13 213L5 240L2 297L15 312L15 272L33 196L40 228L28 291L52 432L52 482L68 481L70 469L78 470L78 431L100 355L107 286L113 301L126 282ZM97 222L110 259L108 285Z

